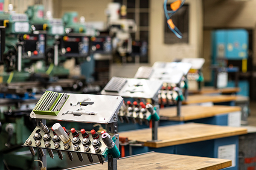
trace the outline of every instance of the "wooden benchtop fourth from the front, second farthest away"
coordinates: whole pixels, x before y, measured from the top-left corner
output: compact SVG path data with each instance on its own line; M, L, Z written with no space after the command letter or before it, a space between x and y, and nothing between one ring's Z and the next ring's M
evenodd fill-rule
M195 103L204 103L204 102L231 102L235 101L235 95L191 95L187 97L186 101L183 101L183 105L195 104Z

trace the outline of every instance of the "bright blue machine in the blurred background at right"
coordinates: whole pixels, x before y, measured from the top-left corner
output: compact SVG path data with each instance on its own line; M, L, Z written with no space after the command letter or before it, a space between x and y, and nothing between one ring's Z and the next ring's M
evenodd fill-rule
M225 70L229 73L230 68L235 68L229 60L240 60L241 68L239 70L243 73L247 72L248 46L249 34L246 29L212 31L212 65L215 68L228 68ZM214 72L212 72L212 77L215 77ZM211 84L213 84L213 81ZM235 80L230 80L229 77L227 87L235 87L235 84ZM241 89L239 95L249 96L248 80L239 81L237 85Z

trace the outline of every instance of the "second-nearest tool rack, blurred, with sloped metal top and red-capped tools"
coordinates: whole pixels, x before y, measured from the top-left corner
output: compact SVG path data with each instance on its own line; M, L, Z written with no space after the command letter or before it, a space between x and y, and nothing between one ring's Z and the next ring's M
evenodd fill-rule
M121 122L135 124L152 120L152 141L157 141L157 127L159 117L158 91L162 87L160 80L128 79L124 77L112 77L105 88L101 91L103 95L119 95L125 98L118 116ZM128 99L133 99L134 105ZM145 101L151 100L150 103ZM140 101L140 105L138 104ZM130 103L128 103L130 102ZM134 108L132 108L134 106Z

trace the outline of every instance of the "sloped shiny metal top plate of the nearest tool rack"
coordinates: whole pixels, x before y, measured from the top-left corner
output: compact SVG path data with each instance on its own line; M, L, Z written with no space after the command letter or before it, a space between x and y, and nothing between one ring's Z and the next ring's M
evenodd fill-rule
M117 121L117 112L123 104L123 98L121 96L104 96L93 94L67 94L69 97L61 108L57 116L35 114L33 111L30 113L30 117L36 119L52 119L58 121L72 121L72 122L87 122L87 123L111 123ZM81 102L86 98L90 98L93 101L93 105L87 106L71 106L70 103ZM58 104L56 104L58 105ZM96 115L74 116L73 114L63 114L67 111L77 111L78 109L84 109L86 112L95 112ZM54 109L54 108L53 108ZM115 115L116 114L116 115ZM116 119L115 119L116 118Z

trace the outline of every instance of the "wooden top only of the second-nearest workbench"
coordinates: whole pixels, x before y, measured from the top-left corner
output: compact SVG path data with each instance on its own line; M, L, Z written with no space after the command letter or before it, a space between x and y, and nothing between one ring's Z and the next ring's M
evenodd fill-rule
M119 136L128 137L130 141L137 141L148 147L166 147L242 135L247 133L247 129L243 127L186 123L182 125L160 126L157 132L159 140L157 142L150 141L152 139L151 128L120 132Z

